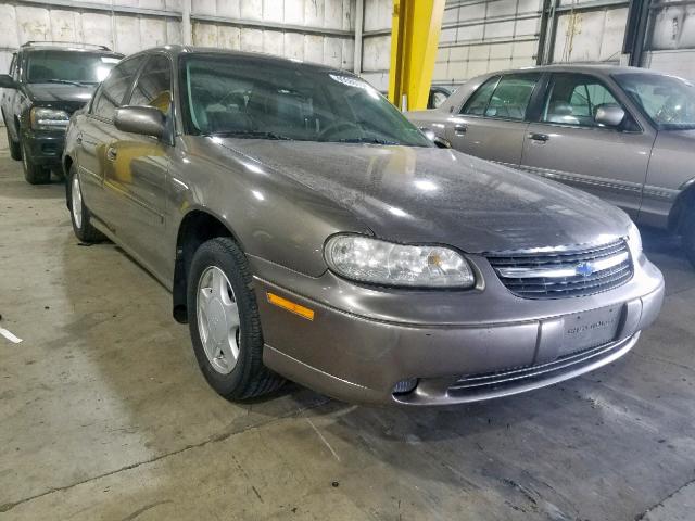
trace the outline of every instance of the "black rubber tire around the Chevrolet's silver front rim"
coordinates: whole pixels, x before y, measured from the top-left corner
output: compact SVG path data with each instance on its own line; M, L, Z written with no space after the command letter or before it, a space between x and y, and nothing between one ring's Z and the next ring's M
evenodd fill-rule
M217 267L227 276L239 309L239 355L228 374L218 372L205 354L198 326L198 289L208 267ZM252 288L251 271L243 252L229 238L203 243L191 262L188 289L188 325L198 365L207 383L227 399L240 401L261 396L279 389L285 379L263 365L263 333Z

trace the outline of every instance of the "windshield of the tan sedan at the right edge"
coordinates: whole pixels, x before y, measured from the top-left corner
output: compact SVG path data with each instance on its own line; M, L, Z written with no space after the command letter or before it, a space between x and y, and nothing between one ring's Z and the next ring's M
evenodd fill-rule
M695 128L695 88L661 74L617 74L616 81L660 129Z

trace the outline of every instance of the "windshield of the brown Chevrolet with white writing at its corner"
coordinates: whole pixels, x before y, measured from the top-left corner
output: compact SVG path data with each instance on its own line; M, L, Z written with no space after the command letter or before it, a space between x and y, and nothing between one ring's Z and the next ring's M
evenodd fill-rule
M198 54L182 61L181 75L189 134L432 145L371 86L345 72Z

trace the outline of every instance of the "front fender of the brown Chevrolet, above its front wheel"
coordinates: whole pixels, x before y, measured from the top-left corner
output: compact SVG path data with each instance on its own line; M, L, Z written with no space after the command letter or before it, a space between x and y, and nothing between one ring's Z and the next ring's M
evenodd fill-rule
M349 211L280 173L228 149L215 150L206 138L186 139L175 147L170 169L173 234L189 212L201 211L223 223L245 253L318 277L327 269L328 237L370 233Z

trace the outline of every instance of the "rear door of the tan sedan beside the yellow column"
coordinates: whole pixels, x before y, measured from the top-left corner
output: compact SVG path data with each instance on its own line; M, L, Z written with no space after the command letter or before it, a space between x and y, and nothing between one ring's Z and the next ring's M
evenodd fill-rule
M453 148L484 160L518 166L528 127L527 111L540 73L493 76L447 122Z

